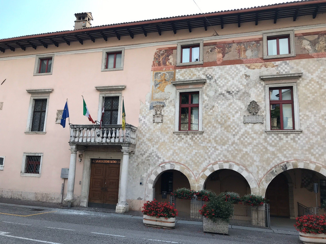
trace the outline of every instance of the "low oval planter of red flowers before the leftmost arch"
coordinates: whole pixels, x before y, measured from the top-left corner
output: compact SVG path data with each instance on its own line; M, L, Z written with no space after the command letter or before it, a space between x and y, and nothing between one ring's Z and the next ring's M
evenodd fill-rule
M143 223L146 226L173 229L175 227L175 217L178 216L178 210L174 204L168 202L147 201L144 203Z

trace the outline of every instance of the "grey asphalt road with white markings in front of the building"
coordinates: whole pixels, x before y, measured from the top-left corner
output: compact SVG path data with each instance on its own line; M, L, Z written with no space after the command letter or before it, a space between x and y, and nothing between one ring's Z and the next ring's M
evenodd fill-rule
M177 223L173 230L146 227L140 217L110 216L74 209L0 206L1 244L299 244L299 236L229 229L229 235L204 233L201 225Z

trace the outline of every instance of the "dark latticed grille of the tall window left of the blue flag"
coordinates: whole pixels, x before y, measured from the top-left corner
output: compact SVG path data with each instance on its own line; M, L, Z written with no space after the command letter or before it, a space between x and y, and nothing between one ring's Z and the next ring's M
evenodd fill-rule
M48 99L35 99L31 131L43 131Z

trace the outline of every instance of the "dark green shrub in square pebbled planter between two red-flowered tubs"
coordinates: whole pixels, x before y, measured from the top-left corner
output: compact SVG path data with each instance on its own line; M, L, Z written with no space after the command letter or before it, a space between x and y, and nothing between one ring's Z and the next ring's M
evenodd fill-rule
M229 220L233 215L233 205L223 198L213 196L199 210L203 216L204 232L228 234Z

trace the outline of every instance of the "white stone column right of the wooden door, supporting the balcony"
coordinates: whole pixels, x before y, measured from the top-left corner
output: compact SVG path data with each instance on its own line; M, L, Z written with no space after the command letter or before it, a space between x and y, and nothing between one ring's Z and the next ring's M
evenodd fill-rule
M116 213L125 213L129 211L129 205L127 203L128 164L129 154L132 149L128 145L123 145L121 151L123 152L123 157L121 166L121 179L119 184L119 199L115 208Z

